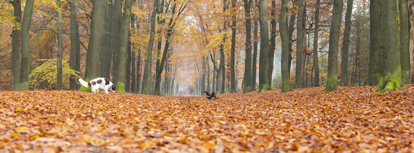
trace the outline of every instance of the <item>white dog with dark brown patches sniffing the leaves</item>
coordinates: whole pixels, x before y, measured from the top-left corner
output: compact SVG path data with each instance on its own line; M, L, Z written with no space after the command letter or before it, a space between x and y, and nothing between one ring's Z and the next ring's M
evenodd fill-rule
M115 92L115 85L107 78L96 78L90 82L85 82L84 80L79 79L79 83L82 86L91 87L92 92L95 93L99 92L99 90L105 91L106 94L108 94L108 90Z

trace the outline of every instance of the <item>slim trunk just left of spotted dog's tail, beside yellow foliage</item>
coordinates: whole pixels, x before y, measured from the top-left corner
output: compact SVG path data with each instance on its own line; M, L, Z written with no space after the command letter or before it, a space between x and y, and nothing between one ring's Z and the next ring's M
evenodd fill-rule
M73 1L69 1L70 6L70 58L69 58L69 66L71 69L76 70L79 72L80 66L80 45L79 45L79 25L77 23L76 18L76 3ZM79 57L77 57L79 54ZM78 61L78 63L77 63ZM79 67L79 69L77 69ZM76 84L75 76L70 76L70 83L69 89L70 90L77 90L79 87Z

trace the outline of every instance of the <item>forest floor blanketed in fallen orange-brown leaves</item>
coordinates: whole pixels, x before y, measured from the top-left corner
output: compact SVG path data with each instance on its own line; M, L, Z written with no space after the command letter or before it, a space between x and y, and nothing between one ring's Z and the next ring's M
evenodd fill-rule
M412 152L414 85L218 99L0 92L0 152Z

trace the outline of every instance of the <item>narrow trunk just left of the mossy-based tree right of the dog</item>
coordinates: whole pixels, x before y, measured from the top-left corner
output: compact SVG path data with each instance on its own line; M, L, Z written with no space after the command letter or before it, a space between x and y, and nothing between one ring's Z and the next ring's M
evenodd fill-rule
M118 82L118 70L119 70L119 65L118 65L118 60L119 60L119 48L120 48L120 33L121 33L121 19L122 19L122 0L114 0L114 8L113 8L113 14L112 14L112 29L111 29L111 34L112 34L112 83L114 83L115 85L117 85ZM114 68L115 67L115 68Z

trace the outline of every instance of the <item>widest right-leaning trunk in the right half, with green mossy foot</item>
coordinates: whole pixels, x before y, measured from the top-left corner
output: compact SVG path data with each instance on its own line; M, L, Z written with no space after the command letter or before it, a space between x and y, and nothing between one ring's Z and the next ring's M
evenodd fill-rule
M343 0L334 0L334 9L332 13L332 24L329 32L328 47L328 74L326 87L323 91L332 91L338 89L338 47L339 31L341 29L342 10L344 9Z

